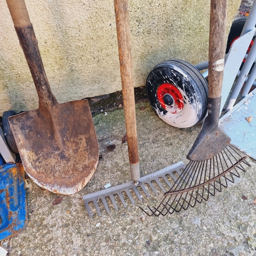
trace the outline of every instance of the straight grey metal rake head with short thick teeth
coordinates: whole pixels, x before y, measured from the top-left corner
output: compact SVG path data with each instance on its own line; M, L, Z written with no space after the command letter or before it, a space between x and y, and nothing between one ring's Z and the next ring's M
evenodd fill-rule
M118 186L109 187L100 191L97 191L95 193L85 195L83 196L83 202L86 205L86 209L88 211L88 215L90 218L92 218L92 212L91 212L91 206L95 206L98 215L101 216L100 212L100 204L102 203L105 210L110 213L108 202L110 199L112 204L114 205L115 209L118 210L118 205L115 200L115 198L118 201L121 201L124 207L126 207L126 203L124 200L124 197L128 197L132 204L135 204L135 201L132 197L132 194L135 194L136 197L142 201L142 197L139 193L139 189L143 191L143 193L149 198L150 194L148 193L148 190L146 187L150 187L151 190L157 195L157 189L156 185L165 193L167 189L166 187L171 188L175 181L177 181L178 177L182 174L181 169L184 169L185 165L182 162L178 162L176 164L167 166L161 170L158 170L157 172L153 174L146 175L144 177L141 177L138 180L138 184L134 184L133 181L127 182ZM161 183L161 181L164 182L164 184ZM154 186L155 184L155 186ZM134 193L133 193L134 192ZM116 197L117 196L117 197Z

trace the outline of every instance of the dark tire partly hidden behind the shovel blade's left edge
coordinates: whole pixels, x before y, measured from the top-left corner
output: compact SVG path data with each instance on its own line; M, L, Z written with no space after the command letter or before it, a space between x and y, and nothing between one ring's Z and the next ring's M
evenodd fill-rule
M9 124L9 121L8 121L8 117L14 116L16 114L17 113L14 112L13 110L9 110L9 111L5 111L3 113L3 117L2 117L4 135L5 135L7 144L10 147L10 150L13 153L18 153L18 148L17 148L15 139L14 139L13 134L12 134L12 130L11 130L11 127L10 127L10 124Z

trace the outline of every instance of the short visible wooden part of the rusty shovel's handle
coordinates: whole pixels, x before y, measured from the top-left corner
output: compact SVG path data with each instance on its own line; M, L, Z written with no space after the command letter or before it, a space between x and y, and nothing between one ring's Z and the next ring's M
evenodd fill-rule
M24 0L6 0L15 27L30 25L30 18Z

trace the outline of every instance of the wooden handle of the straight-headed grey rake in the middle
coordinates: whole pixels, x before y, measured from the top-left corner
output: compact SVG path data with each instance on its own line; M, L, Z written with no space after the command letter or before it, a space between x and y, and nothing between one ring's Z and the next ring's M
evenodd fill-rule
M114 0L114 6L131 176L132 180L137 182L140 173L128 0Z

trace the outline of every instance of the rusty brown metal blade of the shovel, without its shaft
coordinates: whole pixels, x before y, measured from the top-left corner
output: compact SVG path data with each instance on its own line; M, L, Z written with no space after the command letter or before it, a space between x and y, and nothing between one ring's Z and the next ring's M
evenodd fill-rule
M71 195L95 172L99 147L87 100L9 118L24 168L39 186Z

